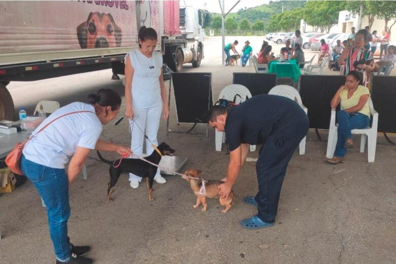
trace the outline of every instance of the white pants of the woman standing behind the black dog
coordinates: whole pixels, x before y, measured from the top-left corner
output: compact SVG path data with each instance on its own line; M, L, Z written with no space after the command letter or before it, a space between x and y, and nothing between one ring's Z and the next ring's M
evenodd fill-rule
M130 142L130 148L134 152L134 154L138 156L143 155L143 141L144 135L139 127L146 132L147 137L151 140L151 142L158 146L157 141L157 133L159 128L159 121L161 118L162 112L162 104L156 107L139 109L134 107L134 114L137 116L135 121L129 120L129 127L132 131L132 138ZM136 125L139 125L139 127ZM146 139L146 153L150 155L154 151L154 148L151 146L150 141ZM158 169L155 177L160 176L160 170ZM142 178L133 174L129 173L129 181L138 179L139 182L142 181Z

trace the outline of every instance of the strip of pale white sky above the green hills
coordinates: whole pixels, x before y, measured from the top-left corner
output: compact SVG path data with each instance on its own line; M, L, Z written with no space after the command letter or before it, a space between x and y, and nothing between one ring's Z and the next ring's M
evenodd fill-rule
M188 0L186 2L189 2ZM232 8L235 3L237 3L238 0L224 0L224 5L225 5L225 12L228 12L230 8ZM241 8L249 8L249 7L256 7L256 6L261 6L263 4L268 4L270 1L269 0L241 0L238 5L231 11L231 12L237 12ZM221 13L220 10L220 5L218 0L195 0L193 1L194 6L197 8L204 8L205 3L206 3L206 9L209 12L215 12L215 13Z

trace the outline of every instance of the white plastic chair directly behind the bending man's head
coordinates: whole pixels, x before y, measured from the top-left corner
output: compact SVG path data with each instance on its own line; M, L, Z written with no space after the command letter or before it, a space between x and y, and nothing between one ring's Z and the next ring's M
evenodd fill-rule
M252 94L249 89L241 84L230 84L225 86L219 95L220 99L226 99L229 101L233 101L236 94L241 95L240 101L236 100L236 103L243 103L246 101L246 98L251 98ZM238 97L239 98L239 97ZM216 151L221 151L222 143L225 143L224 132L219 132L215 130L215 143L216 143ZM250 145L250 151L255 151L256 145Z

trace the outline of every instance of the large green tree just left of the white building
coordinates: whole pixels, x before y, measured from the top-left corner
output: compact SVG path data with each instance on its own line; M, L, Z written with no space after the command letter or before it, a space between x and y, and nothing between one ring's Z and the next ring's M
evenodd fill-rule
M321 32L328 32L338 23L339 12L345 8L345 1L310 1L305 5L303 18Z

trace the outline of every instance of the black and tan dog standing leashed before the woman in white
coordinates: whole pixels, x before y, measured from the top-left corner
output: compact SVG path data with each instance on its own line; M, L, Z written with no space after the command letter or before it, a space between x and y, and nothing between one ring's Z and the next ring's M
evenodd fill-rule
M161 143L157 147L159 152L161 152L162 156L172 156L175 153L175 150L168 146L166 143ZM112 201L111 194L114 191L114 186L116 185L118 178L120 177L121 173L133 173L139 177L147 178L147 189L149 194L149 201L154 201L153 199L153 181L155 177L155 173L157 172L157 167L153 166L152 164L136 158L123 158L117 168L114 168L113 161L106 160L102 157L99 151L96 151L99 158L107 163L110 164L110 182L107 188L107 195L109 202ZM161 161L161 156L159 153L154 150L151 155L145 157L146 160L151 161L155 164L159 164ZM116 161L115 163L118 163Z

